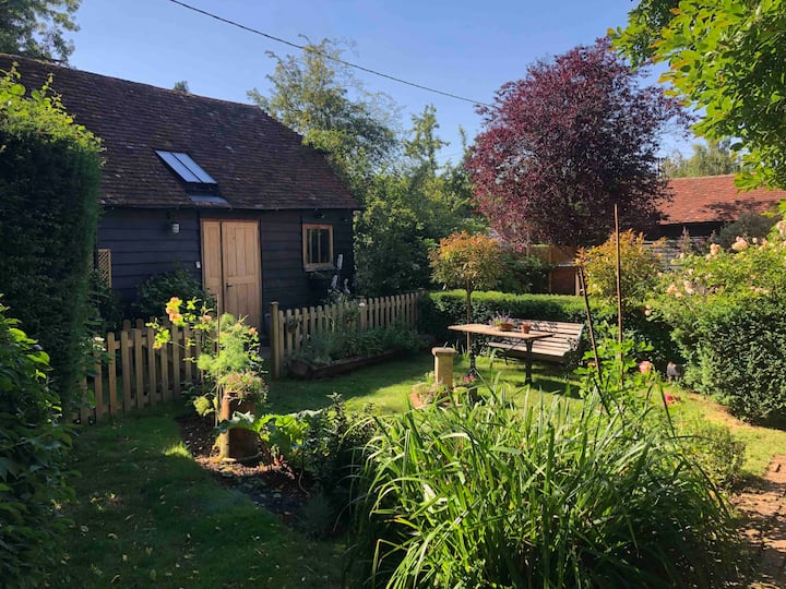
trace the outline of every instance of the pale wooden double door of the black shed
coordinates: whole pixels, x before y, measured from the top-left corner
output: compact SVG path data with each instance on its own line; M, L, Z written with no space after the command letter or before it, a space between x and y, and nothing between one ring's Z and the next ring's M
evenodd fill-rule
M259 327L261 264L257 221L202 221L202 277L221 313Z

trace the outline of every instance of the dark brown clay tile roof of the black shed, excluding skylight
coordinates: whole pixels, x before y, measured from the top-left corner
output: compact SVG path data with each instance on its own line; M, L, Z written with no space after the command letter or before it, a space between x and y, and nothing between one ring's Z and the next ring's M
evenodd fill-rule
M160 160L158 149L189 154L233 208L358 207L324 156L259 107L0 53L0 70L9 71L13 62L28 91L51 73L68 112L102 139L107 206L194 206L193 191Z

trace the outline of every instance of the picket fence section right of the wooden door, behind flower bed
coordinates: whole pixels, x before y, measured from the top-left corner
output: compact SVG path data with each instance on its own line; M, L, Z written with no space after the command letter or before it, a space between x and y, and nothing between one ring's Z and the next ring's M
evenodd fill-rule
M424 291L417 291L394 297L357 299L346 303L287 310L278 309L277 302L271 303L271 376L281 377L287 358L297 353L311 337L319 334L336 328L366 332L394 324L415 328L417 301L422 296Z

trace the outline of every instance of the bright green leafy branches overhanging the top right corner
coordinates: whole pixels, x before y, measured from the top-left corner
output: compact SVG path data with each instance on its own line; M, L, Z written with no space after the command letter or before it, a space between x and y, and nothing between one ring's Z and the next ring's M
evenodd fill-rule
M612 32L635 63L667 63L663 80L703 110L696 134L737 137L742 188L786 188L786 0L645 0Z

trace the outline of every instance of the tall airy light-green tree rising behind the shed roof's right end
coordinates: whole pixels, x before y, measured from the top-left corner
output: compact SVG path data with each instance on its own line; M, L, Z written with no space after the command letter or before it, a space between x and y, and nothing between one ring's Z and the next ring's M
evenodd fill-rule
M267 80L270 96L254 88L249 97L303 143L329 154L336 172L361 202L372 177L391 163L398 146L393 119L397 109L384 94L362 88L349 68L336 60L344 48L323 39L308 43L300 56L278 57Z

